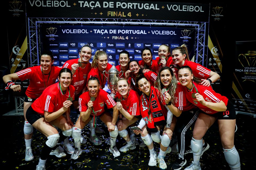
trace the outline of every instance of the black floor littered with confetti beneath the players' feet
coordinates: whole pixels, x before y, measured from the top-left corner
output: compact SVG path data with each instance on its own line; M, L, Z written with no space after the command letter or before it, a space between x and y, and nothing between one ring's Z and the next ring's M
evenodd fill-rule
M76 120L74 113L71 117L73 117L74 121ZM1 169L35 169L38 164L42 143L45 143L46 137L34 129L32 150L35 158L30 162L26 162L24 160L23 116L1 116L1 122L1 131L4 134L1 139L3 147ZM256 168L255 148L253 147L255 144L255 125L256 118L244 114L237 115L238 130L235 133L235 147L240 155L241 169ZM146 147L139 148L137 146L135 150L121 152L121 156L114 158L109 152L109 145L107 145L107 139L109 138L107 128L102 123L100 123L100 127L105 130L105 133L99 134L103 141L102 145L93 146L89 142L89 125L87 125L82 131L82 134L87 139L87 144L82 145L83 153L80 157L77 160L73 160L70 159L69 154L65 158L49 156L46 162L46 169L160 169L159 167L148 166L149 150ZM137 136L137 139L139 139L139 136ZM216 122L206 133L205 141L209 143L210 148L200 159L201 168L205 170L230 169L224 158ZM117 147L120 148L124 144L125 141L118 136ZM154 144L154 146L155 150L159 151L159 145ZM177 153L166 155L165 162L167 169L171 169L176 156ZM192 161L193 154L187 154L185 158L188 162L187 165L189 165Z

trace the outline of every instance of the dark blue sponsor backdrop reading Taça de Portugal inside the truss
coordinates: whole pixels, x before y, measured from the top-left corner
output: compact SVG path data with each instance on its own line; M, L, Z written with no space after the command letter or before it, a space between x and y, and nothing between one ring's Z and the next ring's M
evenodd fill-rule
M40 36L41 49L53 52L55 66L79 58L80 49L86 43L92 48L90 61L97 50L103 50L109 55L111 65L119 65L118 57L122 50L130 53L130 60L142 60L141 50L145 47L152 50L153 59L158 57L161 44L173 49L185 43L190 58L195 49L195 29L191 28L43 24Z

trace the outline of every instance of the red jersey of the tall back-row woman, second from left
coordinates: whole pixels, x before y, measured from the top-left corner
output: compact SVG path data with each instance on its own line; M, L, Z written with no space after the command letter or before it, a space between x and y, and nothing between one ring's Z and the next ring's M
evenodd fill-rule
M72 59L65 62L65 64L62 66L62 68L68 68L71 70L72 64L77 64L79 59ZM71 85L75 87L75 96L80 94L80 92L83 90L84 86L87 82L87 75L91 70L91 63L87 63L85 68L79 67L78 70L75 70L75 74L72 77Z

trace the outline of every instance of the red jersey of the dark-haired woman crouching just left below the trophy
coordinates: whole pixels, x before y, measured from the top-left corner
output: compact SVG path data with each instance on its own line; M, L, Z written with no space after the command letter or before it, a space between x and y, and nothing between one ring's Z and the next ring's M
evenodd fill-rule
M89 95L89 91L84 92L80 97L79 97L79 111L80 112L85 112L87 111L87 103L90 101L90 95ZM99 89L97 97L95 98L95 101L93 101L93 110L95 113L95 116L99 116L101 115L103 112L105 112L104 110L104 106L105 104L107 105L107 108L113 108L116 103L115 101L110 97L110 95L105 92L102 89ZM91 115L93 116L93 110L91 110Z

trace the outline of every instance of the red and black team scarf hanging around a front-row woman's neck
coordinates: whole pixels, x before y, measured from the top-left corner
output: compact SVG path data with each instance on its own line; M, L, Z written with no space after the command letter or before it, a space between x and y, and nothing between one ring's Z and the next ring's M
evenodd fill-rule
M162 109L162 106L157 97L156 89L153 86L151 86L150 90L151 92L149 95L149 100L147 99L144 93L142 93L142 95L140 96L140 110L141 116L147 123L147 130L150 132L157 132L157 129L155 128L156 126L166 124L164 114L166 110ZM149 103L151 104L149 105Z

